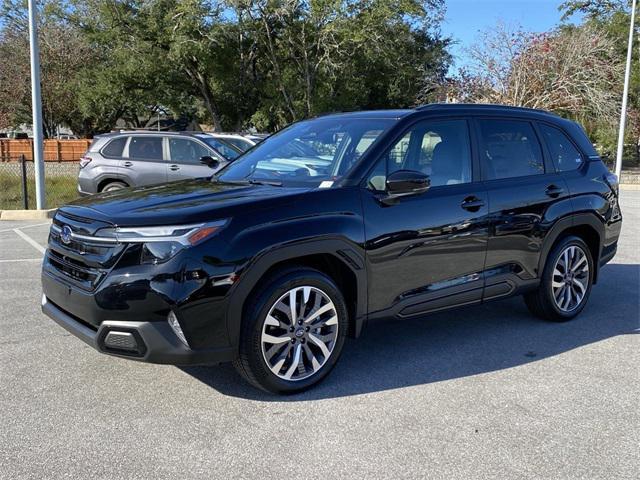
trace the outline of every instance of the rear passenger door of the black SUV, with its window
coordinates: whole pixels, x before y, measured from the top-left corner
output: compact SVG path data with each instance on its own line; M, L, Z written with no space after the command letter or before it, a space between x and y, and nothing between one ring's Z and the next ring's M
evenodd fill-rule
M545 155L533 122L476 117L490 232L484 298L534 283L546 231L568 202L568 189Z

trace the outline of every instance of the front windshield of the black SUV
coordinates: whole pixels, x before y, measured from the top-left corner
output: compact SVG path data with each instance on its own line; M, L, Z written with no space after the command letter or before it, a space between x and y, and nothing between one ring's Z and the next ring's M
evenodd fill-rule
M333 182L346 175L395 122L333 117L295 123L230 164L218 179L310 187Z

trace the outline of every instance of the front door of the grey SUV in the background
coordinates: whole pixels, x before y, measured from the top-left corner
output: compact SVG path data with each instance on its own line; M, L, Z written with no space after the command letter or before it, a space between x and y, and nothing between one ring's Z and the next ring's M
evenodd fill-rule
M215 170L204 165L202 157L219 158L211 149L191 138L167 137L169 162L167 178L170 182L187 178L210 177Z

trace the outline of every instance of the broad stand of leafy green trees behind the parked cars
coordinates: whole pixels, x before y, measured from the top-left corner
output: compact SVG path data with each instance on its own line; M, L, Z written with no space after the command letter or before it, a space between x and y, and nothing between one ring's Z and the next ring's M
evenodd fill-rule
M9 39L6 25L24 29L26 10L20 0L5 5L0 38ZM444 0L46 0L45 122L94 133L161 109L216 130L274 130L330 110L411 106L448 68L443 8ZM16 45L22 68L27 50ZM20 73L2 67L7 79ZM5 117L20 111L6 105Z

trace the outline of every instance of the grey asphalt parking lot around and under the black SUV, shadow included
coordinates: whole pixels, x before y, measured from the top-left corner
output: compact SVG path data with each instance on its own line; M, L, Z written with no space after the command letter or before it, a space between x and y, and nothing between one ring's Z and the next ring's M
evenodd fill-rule
M640 191L581 317L383 321L303 395L107 357L40 313L48 224L0 222L0 478L640 477Z

